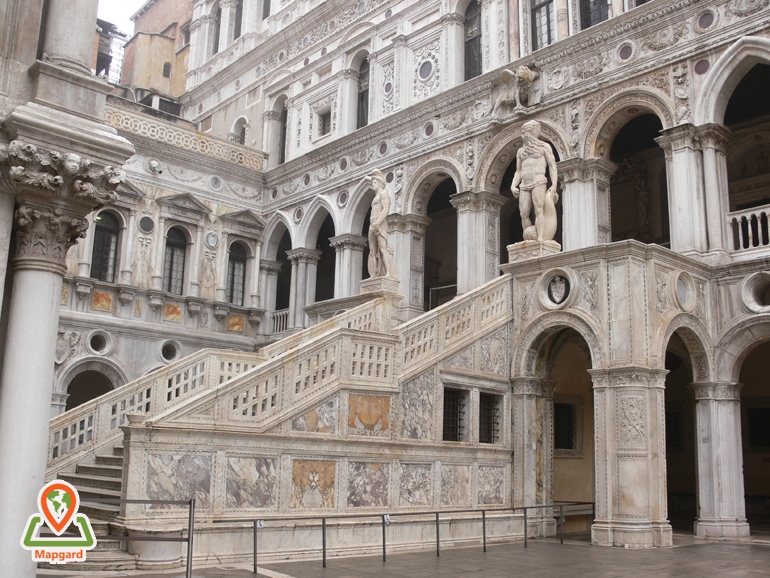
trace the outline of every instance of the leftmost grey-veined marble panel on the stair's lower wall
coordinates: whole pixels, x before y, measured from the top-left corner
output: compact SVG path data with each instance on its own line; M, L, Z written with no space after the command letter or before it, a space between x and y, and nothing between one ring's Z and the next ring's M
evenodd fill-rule
M147 456L147 498L189 500L211 507L211 454L157 453Z

